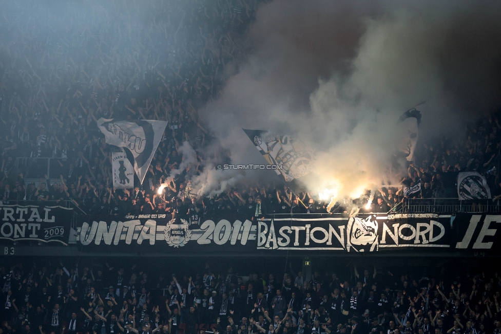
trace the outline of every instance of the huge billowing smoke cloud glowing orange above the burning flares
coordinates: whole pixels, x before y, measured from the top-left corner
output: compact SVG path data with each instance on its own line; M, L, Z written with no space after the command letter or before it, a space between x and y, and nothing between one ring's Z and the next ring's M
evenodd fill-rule
M365 5L260 7L252 54L205 110L234 163L264 161L241 127L294 134L318 152L317 173L303 178L307 188L357 196L400 181L390 161L407 109L427 100L419 106L423 142L460 136L467 121L499 106L501 4Z

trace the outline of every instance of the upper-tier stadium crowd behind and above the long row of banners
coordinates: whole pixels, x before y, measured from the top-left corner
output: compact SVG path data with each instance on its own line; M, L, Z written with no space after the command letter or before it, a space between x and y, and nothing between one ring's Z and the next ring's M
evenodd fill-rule
M91 0L81 14L75 14L76 2L57 9L29 3L11 3L0 17L6 28L0 44L4 203L70 200L88 214L185 214L186 208L206 217L327 212L327 203L315 194L268 184L240 184L192 199L189 176L209 159L229 162L225 152L206 150L216 139L198 112L220 95L225 78L251 48L244 31L254 20L257 0ZM139 19L131 24L128 17ZM37 30L41 22L49 22L50 31ZM141 187L113 188L113 147L97 128L101 117L169 122ZM454 198L457 173L477 171L499 199L500 129L493 115L472 125L464 140L422 144L407 173L394 176L403 177L406 187L421 183L412 198ZM183 160L184 141L197 153L197 168L172 178L170 171ZM42 179L27 184L28 178ZM163 183L168 186L158 194ZM350 212L368 197L329 209ZM369 211L387 212L404 197L401 187L380 189Z

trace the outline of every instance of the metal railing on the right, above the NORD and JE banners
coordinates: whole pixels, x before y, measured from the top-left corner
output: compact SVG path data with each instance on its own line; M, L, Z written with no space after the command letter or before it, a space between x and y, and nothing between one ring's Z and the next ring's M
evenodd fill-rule
M392 212L403 213L456 213L456 212L486 212L499 213L501 205L499 201L491 199L462 200L458 198L415 198L403 201L402 205L396 206Z

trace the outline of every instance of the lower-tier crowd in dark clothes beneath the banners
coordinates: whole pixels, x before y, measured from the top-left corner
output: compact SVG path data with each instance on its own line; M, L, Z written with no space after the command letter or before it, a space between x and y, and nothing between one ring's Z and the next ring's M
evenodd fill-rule
M0 267L4 334L484 334L501 332L497 272L418 274L349 265L308 280L206 263L167 272L147 263L44 261ZM76 263L76 265L73 265ZM169 270L174 270L169 268ZM393 270L393 269L392 269Z

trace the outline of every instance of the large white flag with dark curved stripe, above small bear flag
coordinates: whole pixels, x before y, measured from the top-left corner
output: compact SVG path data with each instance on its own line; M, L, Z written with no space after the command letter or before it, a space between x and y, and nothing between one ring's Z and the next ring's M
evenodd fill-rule
M134 156L134 172L143 183L149 164L162 139L167 122L165 121L121 121L114 119L98 120L98 127L106 138L106 143L126 147Z

